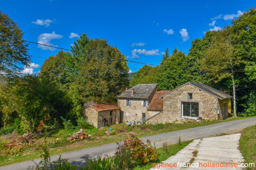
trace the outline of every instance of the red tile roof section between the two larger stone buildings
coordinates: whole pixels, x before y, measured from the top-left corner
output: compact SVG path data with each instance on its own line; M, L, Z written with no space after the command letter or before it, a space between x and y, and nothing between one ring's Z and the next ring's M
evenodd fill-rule
M151 103L148 106L148 110L163 110L163 98L164 94L168 94L169 90L157 91L154 95Z

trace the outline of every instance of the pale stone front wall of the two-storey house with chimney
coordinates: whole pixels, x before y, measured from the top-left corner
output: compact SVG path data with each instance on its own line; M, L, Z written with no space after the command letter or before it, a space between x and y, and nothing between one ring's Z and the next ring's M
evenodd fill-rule
M148 118L147 107L143 107L143 100L131 99L131 106L126 106L125 101L126 99L118 99L117 101L124 113L122 122L141 122L142 113L146 114L146 119Z

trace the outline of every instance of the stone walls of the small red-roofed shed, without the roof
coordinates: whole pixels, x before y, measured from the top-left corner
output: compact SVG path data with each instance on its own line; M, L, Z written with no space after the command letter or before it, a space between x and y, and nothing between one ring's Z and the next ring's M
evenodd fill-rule
M84 110L84 115L88 119L88 123L97 128L114 125L120 122L119 109L97 111L92 107L88 107Z

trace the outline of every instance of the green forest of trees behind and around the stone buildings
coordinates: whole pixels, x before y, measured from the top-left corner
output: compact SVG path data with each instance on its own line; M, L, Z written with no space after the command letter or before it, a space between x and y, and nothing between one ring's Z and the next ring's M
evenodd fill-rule
M256 115L256 8L196 38L188 55L166 48L159 66L141 67L131 81L125 55L106 39L87 34L70 52L48 57L39 74L22 74L31 62L24 33L3 11L0 24L0 134L35 132L42 124L77 125L85 106L115 104L117 94L138 83L158 83L158 90L204 83L233 96L234 116Z

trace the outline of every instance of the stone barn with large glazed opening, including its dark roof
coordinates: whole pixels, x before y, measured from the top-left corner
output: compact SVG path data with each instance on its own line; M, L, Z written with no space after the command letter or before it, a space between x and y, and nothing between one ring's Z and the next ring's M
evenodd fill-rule
M147 119L147 124L175 122L185 118L222 120L228 118L228 94L203 83L188 82L163 95L163 112Z

